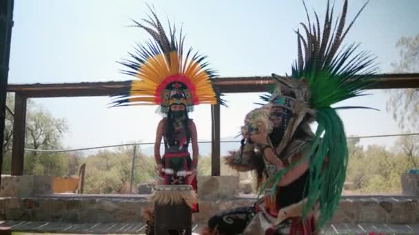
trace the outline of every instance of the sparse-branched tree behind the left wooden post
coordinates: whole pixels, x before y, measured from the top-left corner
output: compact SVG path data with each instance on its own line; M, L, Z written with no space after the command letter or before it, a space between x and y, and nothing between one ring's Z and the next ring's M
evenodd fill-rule
M3 142L3 170L10 174L11 150L13 142L14 97L8 96L10 111L6 113L5 138ZM50 112L32 100L28 100L26 113L25 148L51 150L61 148L61 137L68 131L63 119L53 117ZM65 154L25 152L25 175L67 175L67 157Z

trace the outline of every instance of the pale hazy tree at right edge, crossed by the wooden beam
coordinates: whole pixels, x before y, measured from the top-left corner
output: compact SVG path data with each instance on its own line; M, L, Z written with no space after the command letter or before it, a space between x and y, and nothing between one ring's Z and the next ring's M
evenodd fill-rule
M400 61L392 63L397 73L419 72L419 34L401 37L396 47L400 49ZM419 88L389 91L387 110L393 113L401 128L419 128Z

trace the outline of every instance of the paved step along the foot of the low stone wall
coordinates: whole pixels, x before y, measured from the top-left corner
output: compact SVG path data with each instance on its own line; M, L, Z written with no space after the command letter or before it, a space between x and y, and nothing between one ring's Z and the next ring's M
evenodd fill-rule
M2 223L3 222L3 223ZM139 221L125 223L59 223L43 221L0 221L1 226L12 227L12 232L51 234L143 234L145 224ZM194 224L199 234L203 224ZM325 227L323 234L419 234L418 224L348 224L337 223Z

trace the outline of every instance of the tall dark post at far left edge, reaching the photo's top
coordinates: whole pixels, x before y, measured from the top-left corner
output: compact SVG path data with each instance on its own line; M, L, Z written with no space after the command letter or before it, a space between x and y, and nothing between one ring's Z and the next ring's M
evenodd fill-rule
M13 5L14 0L0 1L0 176L3 167L4 121L6 119L6 89L8 87Z

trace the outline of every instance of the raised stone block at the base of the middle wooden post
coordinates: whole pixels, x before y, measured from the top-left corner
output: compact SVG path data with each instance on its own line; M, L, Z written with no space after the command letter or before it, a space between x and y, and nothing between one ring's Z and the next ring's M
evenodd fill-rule
M239 190L236 176L198 176L199 199L231 199Z

